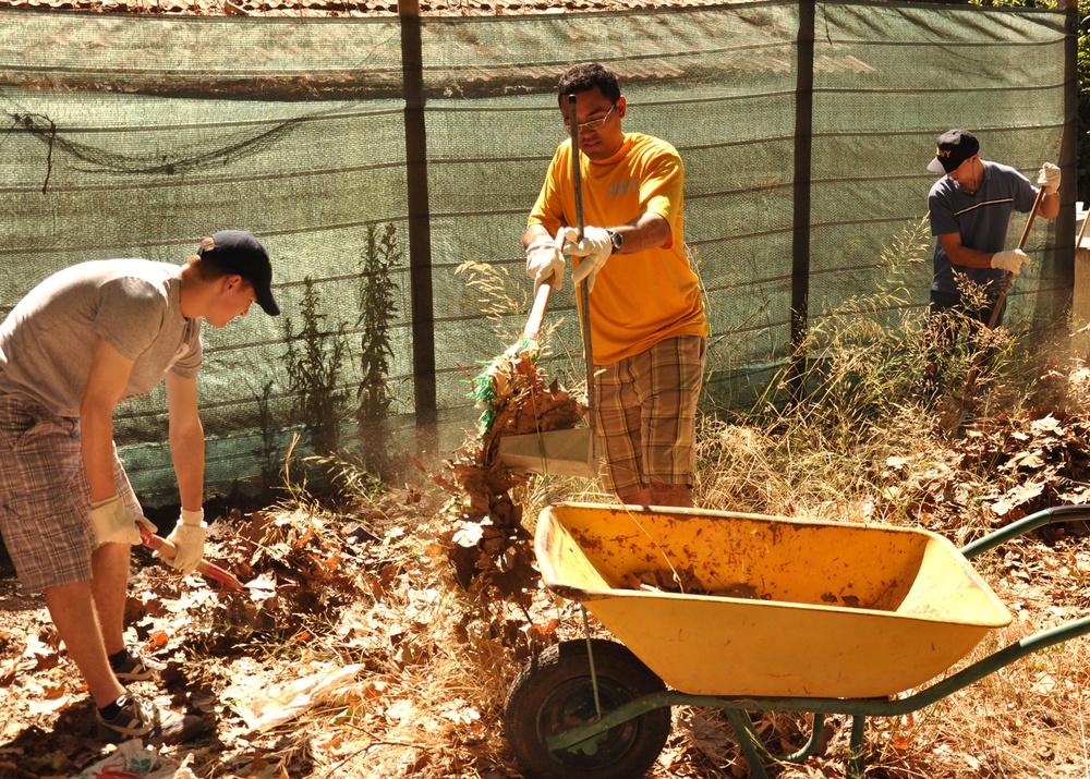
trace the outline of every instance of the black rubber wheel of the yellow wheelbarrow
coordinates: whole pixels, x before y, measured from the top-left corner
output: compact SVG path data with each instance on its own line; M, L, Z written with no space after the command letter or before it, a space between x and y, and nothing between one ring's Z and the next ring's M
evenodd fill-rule
M605 714L621 704L666 689L625 646L591 641L598 699ZM548 647L514 679L507 694L507 740L531 779L637 779L654 764L670 734L668 706L613 728L593 743L550 752L552 735L595 719L594 686L586 641Z

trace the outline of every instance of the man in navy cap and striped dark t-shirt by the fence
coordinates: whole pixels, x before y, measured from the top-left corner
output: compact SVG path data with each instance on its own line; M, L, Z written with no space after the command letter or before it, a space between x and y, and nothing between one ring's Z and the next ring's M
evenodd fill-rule
M928 208L935 236L935 275L931 282L931 312L964 312L986 325L1007 273L1018 273L1029 257L1021 249L1004 249L1012 211L1028 212L1037 188L1014 168L980 158L980 143L968 130L938 136L935 158L928 166L945 173L931 187ZM1037 215L1055 219L1059 214L1059 168L1045 162L1038 175L1044 196ZM984 288L990 304L967 311L965 281ZM996 324L1003 321L1000 311Z

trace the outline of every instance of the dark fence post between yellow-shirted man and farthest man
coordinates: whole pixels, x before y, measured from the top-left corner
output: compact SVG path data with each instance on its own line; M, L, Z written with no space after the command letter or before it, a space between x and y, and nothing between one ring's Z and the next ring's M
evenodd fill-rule
M814 0L799 2L799 35L796 42L795 82L795 196L791 235L791 366L788 387L794 399L800 386L807 355L801 345L807 336L810 305L810 185L813 154L814 107Z

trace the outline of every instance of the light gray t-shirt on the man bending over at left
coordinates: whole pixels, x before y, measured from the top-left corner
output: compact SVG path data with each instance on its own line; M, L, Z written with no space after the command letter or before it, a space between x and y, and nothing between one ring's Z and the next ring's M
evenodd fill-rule
M196 377L201 319L182 316L181 270L104 259L50 276L0 325L0 393L78 416L99 338L133 361L121 400L150 392L168 370Z

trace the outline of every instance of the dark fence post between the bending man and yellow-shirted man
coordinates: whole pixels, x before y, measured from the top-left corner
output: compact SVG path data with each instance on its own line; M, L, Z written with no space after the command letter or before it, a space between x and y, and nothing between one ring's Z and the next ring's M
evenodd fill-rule
M435 311L432 301L432 230L427 200L427 131L424 125L424 54L420 0L398 0L401 20L402 94L405 101L405 186L409 206L409 284L416 453L438 441L435 394Z

